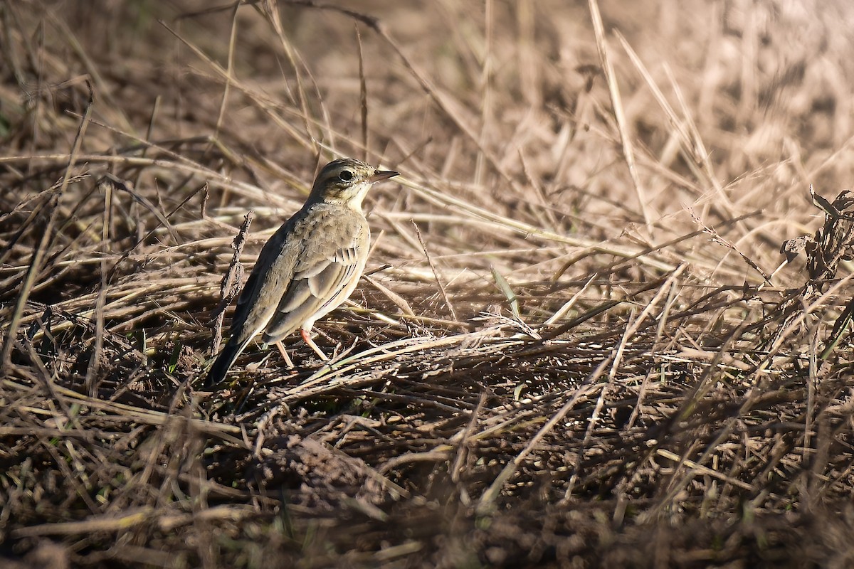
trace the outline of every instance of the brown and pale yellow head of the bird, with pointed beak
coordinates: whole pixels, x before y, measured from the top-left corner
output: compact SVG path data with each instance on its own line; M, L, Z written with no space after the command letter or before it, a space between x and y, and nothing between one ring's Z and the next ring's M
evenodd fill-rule
M377 170L370 164L352 158L333 160L324 166L314 180L311 198L358 210L371 185L398 175L399 172Z

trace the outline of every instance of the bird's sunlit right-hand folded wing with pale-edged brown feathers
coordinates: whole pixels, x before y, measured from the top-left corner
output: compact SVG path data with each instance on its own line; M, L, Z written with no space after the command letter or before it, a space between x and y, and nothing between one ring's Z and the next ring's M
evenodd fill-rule
M313 218L312 239L303 241L278 308L267 322L264 341L275 342L324 316L347 299L348 284L365 267L369 233L357 212Z

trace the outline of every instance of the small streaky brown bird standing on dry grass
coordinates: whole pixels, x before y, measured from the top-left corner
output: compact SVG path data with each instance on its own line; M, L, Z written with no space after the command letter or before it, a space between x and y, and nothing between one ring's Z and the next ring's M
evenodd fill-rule
M325 165L301 210L261 249L237 297L231 338L208 371L205 385L224 380L249 340L261 331L264 343L277 344L284 354L281 340L301 328L302 340L326 359L309 335L312 325L353 293L371 241L362 199L371 185L397 175L348 158Z

